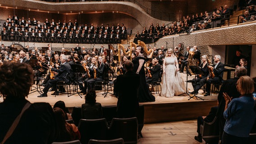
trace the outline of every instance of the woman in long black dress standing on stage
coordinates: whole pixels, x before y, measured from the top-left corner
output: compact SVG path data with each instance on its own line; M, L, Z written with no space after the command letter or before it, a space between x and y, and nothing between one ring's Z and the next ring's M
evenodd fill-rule
M142 46L137 46L136 48L136 58L133 59L133 72L140 75L140 86L137 92L139 102L154 102L155 97L149 92L146 86L146 76L145 76L145 58L143 56L144 49Z

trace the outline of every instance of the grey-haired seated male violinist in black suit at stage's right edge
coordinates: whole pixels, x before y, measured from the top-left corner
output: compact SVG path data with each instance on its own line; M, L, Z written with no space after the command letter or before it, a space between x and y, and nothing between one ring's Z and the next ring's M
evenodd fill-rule
M198 85L196 85L195 90L198 91L205 83L206 83L206 94L204 96L210 95L210 84L216 82L222 82L222 76L224 73L224 63L220 62L220 55L214 56L215 65L208 66L209 69L212 69L213 74L215 75L212 77L211 72L206 78L203 78L199 81Z

